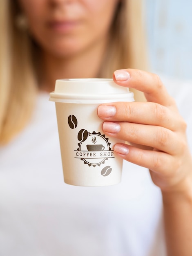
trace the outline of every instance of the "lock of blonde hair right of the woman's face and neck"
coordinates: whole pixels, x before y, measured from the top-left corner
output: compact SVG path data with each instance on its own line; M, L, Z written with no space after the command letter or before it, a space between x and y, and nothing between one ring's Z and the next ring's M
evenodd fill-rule
M148 69L142 3L142 0L119 2L101 76L111 77L117 69Z

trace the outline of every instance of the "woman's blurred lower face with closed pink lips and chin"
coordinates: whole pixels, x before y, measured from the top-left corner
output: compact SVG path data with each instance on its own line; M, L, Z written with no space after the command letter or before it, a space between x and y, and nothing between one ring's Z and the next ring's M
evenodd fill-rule
M118 0L19 0L29 30L45 50L71 56L107 38Z

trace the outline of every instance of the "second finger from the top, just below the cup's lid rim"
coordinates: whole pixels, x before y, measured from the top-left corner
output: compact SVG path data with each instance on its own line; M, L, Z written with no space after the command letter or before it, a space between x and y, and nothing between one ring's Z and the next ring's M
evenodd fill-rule
M114 102L98 107L98 116L106 121L122 121L162 126L172 131L183 129L184 121L177 112L152 102Z

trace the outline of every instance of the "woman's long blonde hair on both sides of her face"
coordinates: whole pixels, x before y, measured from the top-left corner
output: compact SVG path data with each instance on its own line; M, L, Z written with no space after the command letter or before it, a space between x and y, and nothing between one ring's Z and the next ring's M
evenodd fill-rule
M111 77L114 70L146 70L142 0L121 0L111 29L111 40L99 72ZM29 33L18 29L17 1L0 1L0 143L10 141L29 122L38 92Z

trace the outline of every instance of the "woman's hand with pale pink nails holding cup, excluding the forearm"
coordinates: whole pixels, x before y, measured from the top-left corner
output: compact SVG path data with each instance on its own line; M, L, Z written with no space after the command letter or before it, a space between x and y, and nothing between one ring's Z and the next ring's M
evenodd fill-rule
M141 70L116 70L114 82L144 92L147 99L98 107L105 134L131 144L116 144L114 151L129 162L149 168L154 184L162 191L189 189L192 157L186 124L159 76Z

